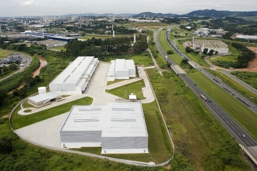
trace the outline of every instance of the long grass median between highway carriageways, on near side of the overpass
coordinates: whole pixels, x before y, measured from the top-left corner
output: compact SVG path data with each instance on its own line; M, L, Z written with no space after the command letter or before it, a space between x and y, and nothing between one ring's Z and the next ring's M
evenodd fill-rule
M255 139L257 139L257 115L240 103L231 94L220 88L216 83L205 77L196 69L188 72L189 77L197 83L204 92L216 101L231 117L242 125Z

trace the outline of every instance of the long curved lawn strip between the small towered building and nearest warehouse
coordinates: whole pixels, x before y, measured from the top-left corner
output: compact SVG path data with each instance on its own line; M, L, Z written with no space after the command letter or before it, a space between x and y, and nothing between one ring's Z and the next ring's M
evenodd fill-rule
M35 114L29 114L25 116L18 114L18 111L21 110L21 108L19 107L12 114L10 123L13 125L13 129L16 130L18 128L23 128L24 126L31 125L32 123L37 123L38 121L43 121L45 119L49 119L59 114L68 112L73 105L90 105L92 102L93 99L91 97L84 97L76 101L71 101L63 105L57 105L54 108L49 108L48 110L36 112Z

